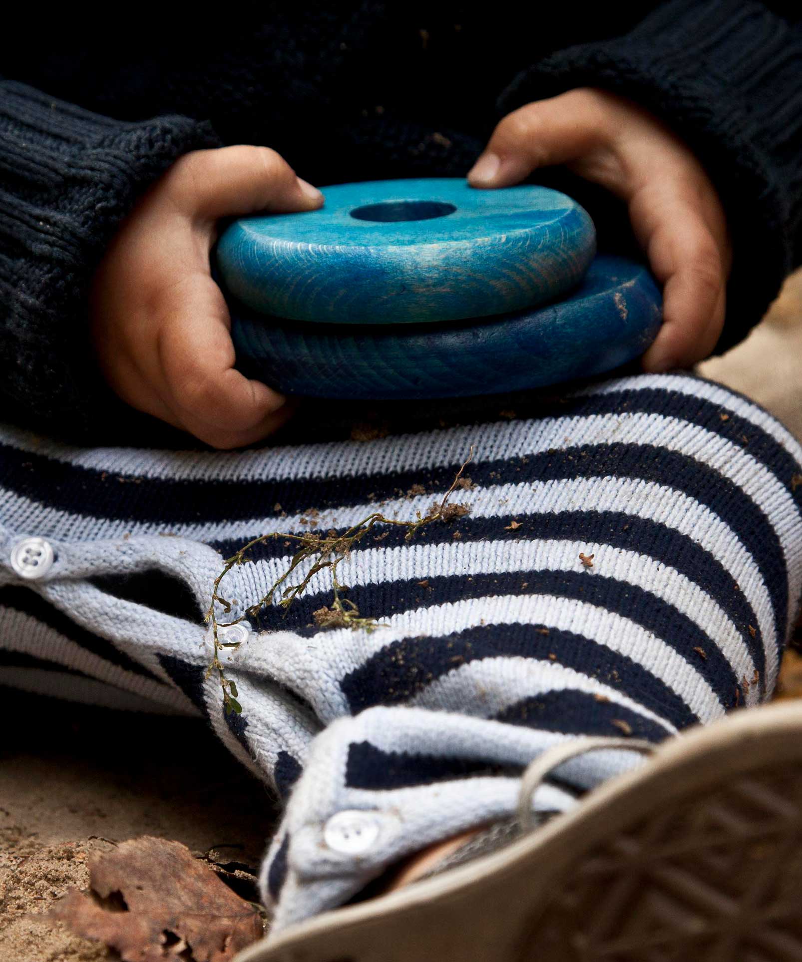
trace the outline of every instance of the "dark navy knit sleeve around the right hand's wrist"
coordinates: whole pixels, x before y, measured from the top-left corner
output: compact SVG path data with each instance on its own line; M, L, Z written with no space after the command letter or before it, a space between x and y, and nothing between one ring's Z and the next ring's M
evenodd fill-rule
M628 96L705 165L734 247L718 350L740 341L802 263L802 24L753 0L670 0L626 36L569 47L504 91L506 114L568 89Z

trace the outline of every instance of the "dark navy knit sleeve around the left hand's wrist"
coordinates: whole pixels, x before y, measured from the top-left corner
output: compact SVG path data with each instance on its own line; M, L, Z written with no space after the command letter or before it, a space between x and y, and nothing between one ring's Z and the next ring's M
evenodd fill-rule
M0 78L0 418L91 431L109 400L92 361L92 273L139 194L206 122L92 114Z

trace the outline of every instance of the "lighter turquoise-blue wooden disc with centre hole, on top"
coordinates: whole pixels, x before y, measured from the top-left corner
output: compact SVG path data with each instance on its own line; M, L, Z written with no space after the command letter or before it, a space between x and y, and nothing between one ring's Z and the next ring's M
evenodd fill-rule
M253 311L349 324L498 315L570 291L595 253L590 217L557 190L432 178L323 192L319 211L222 233L220 276Z

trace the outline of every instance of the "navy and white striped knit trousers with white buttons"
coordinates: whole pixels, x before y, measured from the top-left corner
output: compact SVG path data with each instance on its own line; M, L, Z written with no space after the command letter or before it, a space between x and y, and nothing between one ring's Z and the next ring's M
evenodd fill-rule
M547 747L660 741L770 696L802 581L789 433L690 376L517 414L234 453L84 450L3 429L0 681L211 722L285 802L263 870L275 929L511 815ZM379 627L316 625L332 596L322 571L286 617L273 606L229 629L243 712L226 715L203 620L222 560L269 532L426 514L471 445L470 484L453 494L467 514L411 541L379 525L341 565ZM52 565L26 538L52 547ZM293 550L270 541L231 570L227 620ZM566 763L534 805L567 809L633 764L613 749Z

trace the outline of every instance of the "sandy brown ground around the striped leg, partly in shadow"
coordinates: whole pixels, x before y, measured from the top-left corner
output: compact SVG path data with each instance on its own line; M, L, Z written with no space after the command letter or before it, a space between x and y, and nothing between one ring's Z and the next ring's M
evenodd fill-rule
M802 272L746 342L702 371L761 402L802 440L800 367ZM785 696L802 694L802 658L794 652L783 677ZM217 863L258 865L271 799L202 724L3 698L2 962L113 957L38 918L67 888L88 884L94 849L148 834Z

